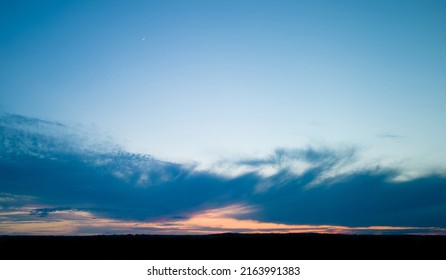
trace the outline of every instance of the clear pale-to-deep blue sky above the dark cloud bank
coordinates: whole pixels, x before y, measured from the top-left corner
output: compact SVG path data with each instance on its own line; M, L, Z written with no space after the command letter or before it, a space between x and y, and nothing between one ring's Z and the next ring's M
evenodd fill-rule
M2 1L0 110L222 176L302 175L314 162L252 163L314 149L354 151L327 178L383 168L407 183L445 174L445 14L443 1Z

